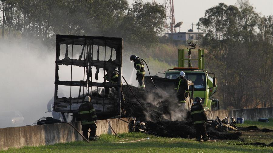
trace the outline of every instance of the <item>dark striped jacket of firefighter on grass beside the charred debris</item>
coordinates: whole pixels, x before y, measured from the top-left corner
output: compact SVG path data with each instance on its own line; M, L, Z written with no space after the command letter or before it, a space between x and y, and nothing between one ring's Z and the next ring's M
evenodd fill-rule
M194 124L204 123L207 120L205 109L201 103L194 104L190 109L190 115Z

